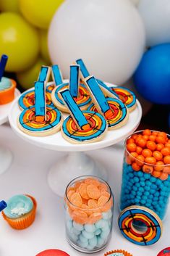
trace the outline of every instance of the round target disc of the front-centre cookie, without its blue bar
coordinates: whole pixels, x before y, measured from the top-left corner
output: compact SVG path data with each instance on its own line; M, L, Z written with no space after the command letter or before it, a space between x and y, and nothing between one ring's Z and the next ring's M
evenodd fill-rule
M78 129L72 116L64 120L61 128L61 134L69 142L79 143L92 143L103 139L107 131L107 123L105 118L93 111L83 111L85 118L88 120L89 127L87 129Z

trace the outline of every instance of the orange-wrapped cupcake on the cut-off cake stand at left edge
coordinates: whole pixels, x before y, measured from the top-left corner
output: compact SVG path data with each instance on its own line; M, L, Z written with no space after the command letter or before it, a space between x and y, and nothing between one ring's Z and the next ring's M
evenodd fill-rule
M0 105L12 102L14 99L14 89L17 83L9 78L2 77L0 81Z

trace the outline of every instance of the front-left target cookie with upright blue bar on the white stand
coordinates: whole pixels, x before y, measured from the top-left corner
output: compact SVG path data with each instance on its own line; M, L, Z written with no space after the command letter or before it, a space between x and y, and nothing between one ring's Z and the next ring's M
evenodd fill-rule
M35 106L23 110L17 123L20 130L31 136L47 136L60 130L61 112L46 106L43 82L35 82Z

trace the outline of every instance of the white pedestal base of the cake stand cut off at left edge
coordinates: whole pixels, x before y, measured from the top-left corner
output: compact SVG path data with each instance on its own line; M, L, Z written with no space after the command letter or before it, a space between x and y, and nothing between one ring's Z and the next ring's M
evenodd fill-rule
M0 146L0 174L4 173L12 163L12 152Z

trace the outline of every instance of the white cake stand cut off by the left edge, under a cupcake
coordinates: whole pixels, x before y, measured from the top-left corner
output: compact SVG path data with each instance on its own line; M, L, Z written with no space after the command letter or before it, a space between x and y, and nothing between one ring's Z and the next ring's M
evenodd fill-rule
M19 95L20 95L20 91L16 88L14 93L15 99ZM12 102L9 102L8 104L0 105L0 125L7 122L11 105L12 105ZM10 152L10 150L7 149L6 147L0 145L0 174L4 173L9 168L9 166L11 165L11 162L12 162L12 152Z

